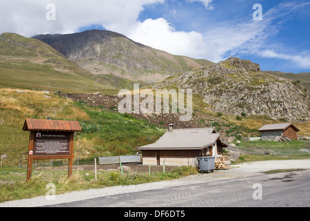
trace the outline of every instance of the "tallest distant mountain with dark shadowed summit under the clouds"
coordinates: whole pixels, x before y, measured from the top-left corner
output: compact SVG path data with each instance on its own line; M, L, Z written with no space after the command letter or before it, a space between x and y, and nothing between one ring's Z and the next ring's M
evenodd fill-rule
M171 55L107 30L87 30L70 35L37 35L33 38L49 44L95 75L112 73L148 83L214 64L205 59Z

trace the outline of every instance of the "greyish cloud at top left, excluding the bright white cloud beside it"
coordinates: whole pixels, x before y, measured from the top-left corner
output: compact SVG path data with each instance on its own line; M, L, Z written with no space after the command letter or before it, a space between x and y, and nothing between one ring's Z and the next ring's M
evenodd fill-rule
M15 32L25 37L40 33L72 33L81 26L101 24L125 32L136 23L143 6L164 0L11 0L1 1L0 32ZM48 21L46 6L56 7L56 20ZM4 21L4 22L3 22Z

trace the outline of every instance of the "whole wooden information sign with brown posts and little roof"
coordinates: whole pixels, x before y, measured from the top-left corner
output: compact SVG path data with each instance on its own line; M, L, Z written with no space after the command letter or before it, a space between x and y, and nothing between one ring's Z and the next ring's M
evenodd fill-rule
M33 160L68 159L68 177L72 175L74 132L81 131L79 122L25 119L23 131L30 131L27 182Z

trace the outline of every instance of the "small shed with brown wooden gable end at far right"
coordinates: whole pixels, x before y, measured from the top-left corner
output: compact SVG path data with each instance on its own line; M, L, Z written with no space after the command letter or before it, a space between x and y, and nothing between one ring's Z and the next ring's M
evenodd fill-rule
M266 124L259 128L261 140L276 140L277 137L287 137L290 140L298 140L298 129L292 123Z

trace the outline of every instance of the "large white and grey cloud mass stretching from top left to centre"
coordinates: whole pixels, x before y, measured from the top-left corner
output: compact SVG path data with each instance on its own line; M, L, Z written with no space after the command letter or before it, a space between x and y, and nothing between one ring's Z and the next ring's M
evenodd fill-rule
M46 6L55 6L56 20L45 17ZM145 6L164 0L28 0L3 1L0 8L0 32L15 32L25 37L38 34L68 34L83 26L102 25L134 41L176 55L202 55L203 36L198 32L176 31L163 18L138 21ZM7 19L10 18L10 19Z

